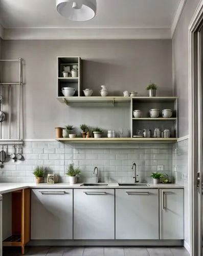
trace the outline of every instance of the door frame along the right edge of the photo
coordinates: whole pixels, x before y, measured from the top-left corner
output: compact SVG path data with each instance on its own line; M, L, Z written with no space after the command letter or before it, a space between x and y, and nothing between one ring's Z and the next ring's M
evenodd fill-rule
M201 97L199 97L199 78L198 78L198 27L203 21L203 0L195 10L189 25L189 193L190 193L190 255L198 255L198 188L197 188L197 172L202 168L201 159L198 156L198 138L202 138L198 127L198 106L202 105ZM196 47L195 47L196 45ZM201 111L200 111L201 112ZM201 144L201 143L200 143ZM202 174L200 174L200 188L202 183ZM201 210L201 209L200 209ZM201 238L200 238L201 239Z

